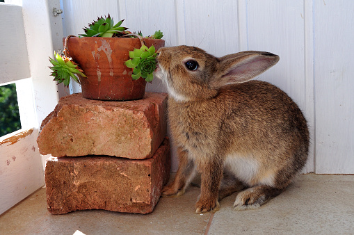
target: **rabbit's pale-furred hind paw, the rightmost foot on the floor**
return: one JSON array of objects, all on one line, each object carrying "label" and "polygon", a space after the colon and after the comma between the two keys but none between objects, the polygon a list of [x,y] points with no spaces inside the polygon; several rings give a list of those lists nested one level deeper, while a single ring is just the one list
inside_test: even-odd
[{"label": "rabbit's pale-furred hind paw, the rightmost foot on the floor", "polygon": [[236,211],[257,209],[264,202],[266,202],[266,195],[262,191],[257,188],[248,188],[236,196],[234,209]]}]

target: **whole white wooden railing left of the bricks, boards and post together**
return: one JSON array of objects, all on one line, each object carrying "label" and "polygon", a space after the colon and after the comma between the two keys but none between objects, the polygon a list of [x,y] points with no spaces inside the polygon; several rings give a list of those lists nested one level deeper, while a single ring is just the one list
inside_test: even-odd
[{"label": "whole white wooden railing left of the bricks, boards and post together", "polygon": [[45,184],[36,140],[40,123],[58,104],[47,67],[48,57],[62,48],[63,26],[52,15],[54,7],[60,8],[59,0],[0,3],[0,84],[16,81],[22,125],[0,137],[0,214]]}]

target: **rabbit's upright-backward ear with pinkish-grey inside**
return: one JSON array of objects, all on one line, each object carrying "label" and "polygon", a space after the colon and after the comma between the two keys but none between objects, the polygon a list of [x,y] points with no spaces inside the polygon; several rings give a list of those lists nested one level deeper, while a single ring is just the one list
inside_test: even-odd
[{"label": "rabbit's upright-backward ear with pinkish-grey inside", "polygon": [[219,58],[216,76],[211,86],[243,83],[262,74],[279,61],[279,56],[263,51],[243,51]]}]

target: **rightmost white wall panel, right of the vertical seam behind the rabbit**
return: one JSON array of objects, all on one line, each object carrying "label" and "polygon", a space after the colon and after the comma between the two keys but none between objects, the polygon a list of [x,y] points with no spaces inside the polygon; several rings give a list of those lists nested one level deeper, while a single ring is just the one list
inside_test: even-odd
[{"label": "rightmost white wall panel, right of the vertical seam behind the rabbit", "polygon": [[354,1],[314,1],[316,172],[354,173]]}]

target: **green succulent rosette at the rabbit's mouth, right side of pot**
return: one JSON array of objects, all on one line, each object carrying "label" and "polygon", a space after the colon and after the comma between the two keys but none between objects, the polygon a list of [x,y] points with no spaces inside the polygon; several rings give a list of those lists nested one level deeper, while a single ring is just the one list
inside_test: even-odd
[{"label": "green succulent rosette at the rabbit's mouth, right side of pot", "polygon": [[152,74],[156,69],[156,52],[155,47],[152,45],[147,48],[145,45],[140,47],[140,49],[134,49],[134,51],[129,51],[130,59],[125,61],[125,65],[133,69],[133,74],[131,78],[137,80],[140,76],[147,82],[154,79]]}]

